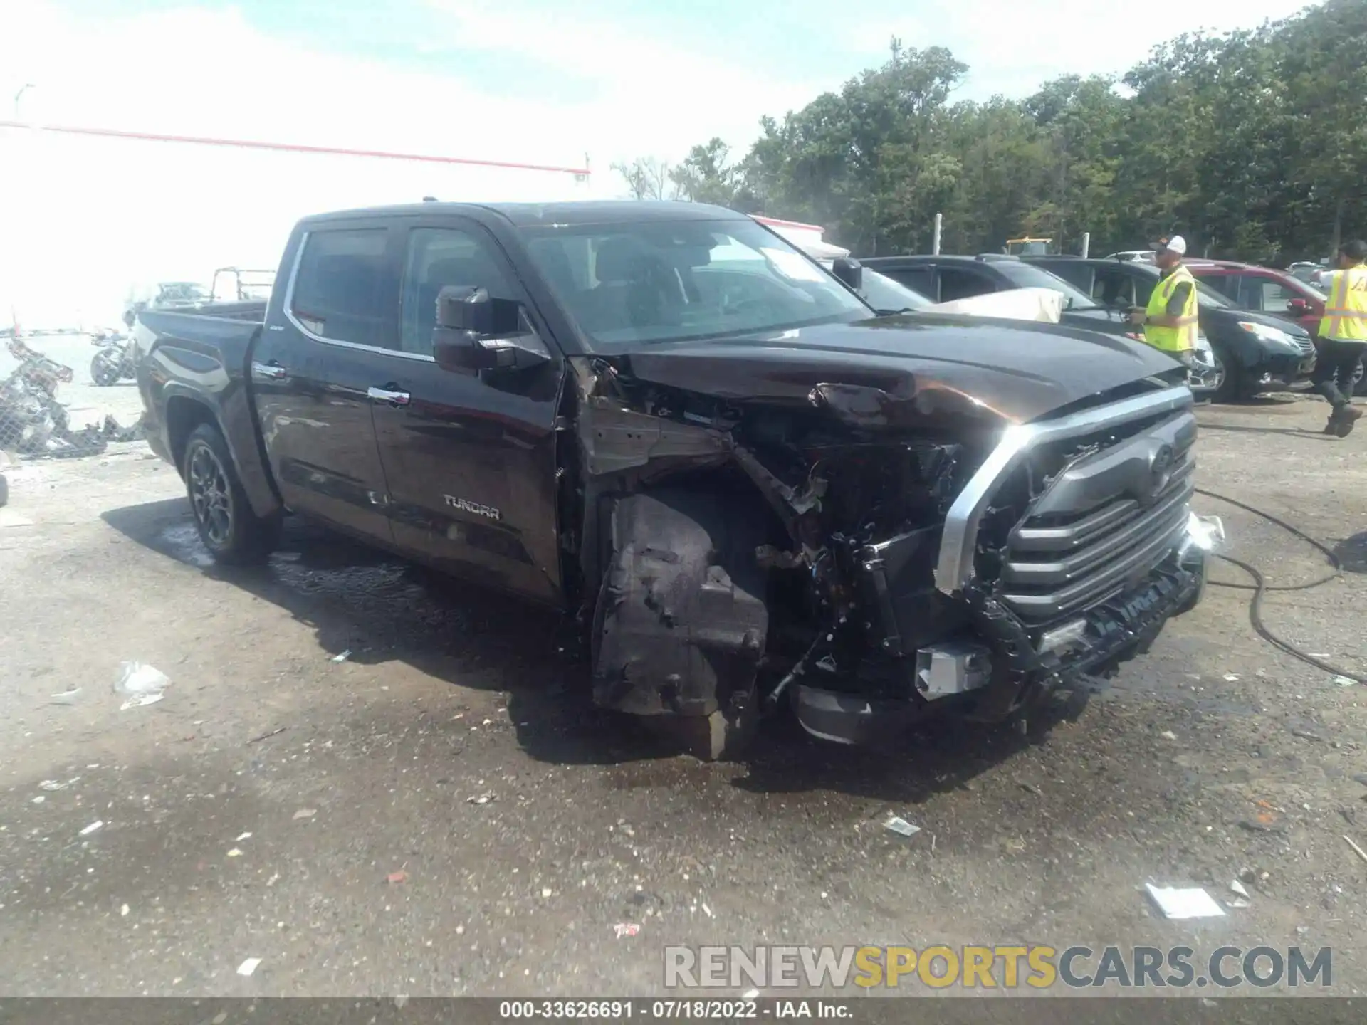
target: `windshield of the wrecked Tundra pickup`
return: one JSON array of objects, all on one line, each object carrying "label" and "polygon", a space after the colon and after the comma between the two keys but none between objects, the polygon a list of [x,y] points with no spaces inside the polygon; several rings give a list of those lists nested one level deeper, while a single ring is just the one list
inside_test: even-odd
[{"label": "windshield of the wrecked Tundra pickup", "polygon": [[522,231],[580,331],[604,350],[872,316],[830,273],[749,219]]}]

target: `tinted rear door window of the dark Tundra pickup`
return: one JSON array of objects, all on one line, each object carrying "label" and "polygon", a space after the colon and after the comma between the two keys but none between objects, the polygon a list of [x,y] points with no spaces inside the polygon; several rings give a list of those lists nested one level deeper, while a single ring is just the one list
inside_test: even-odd
[{"label": "tinted rear door window of the dark Tundra pickup", "polygon": [[387,242],[384,228],[309,232],[290,301],[294,318],[321,338],[387,346]]}]

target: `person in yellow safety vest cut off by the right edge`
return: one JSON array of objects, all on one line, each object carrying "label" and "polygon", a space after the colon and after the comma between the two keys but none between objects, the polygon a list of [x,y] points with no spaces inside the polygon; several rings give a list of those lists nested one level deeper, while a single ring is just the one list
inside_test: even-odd
[{"label": "person in yellow safety vest cut off by the right edge", "polygon": [[1367,242],[1349,242],[1338,250],[1338,269],[1322,273],[1319,287],[1329,292],[1319,321],[1319,358],[1315,391],[1334,407],[1326,435],[1348,437],[1362,417],[1353,409],[1353,377],[1367,355]]}]

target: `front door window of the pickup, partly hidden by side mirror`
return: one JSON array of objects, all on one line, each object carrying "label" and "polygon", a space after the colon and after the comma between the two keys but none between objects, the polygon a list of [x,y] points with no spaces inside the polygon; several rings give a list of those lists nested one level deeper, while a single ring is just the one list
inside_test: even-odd
[{"label": "front door window of the pickup, partly hidden by side mirror", "polygon": [[491,242],[461,228],[413,228],[403,260],[399,348],[432,354],[436,297],[448,284],[484,288],[495,299],[521,299]]}]

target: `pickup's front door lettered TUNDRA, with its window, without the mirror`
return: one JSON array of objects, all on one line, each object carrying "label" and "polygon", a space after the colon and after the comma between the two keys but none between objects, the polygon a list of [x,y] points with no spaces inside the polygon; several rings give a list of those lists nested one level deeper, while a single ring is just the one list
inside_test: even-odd
[{"label": "pickup's front door lettered TUNDRA, with its window, without the mirror", "polygon": [[[394,540],[470,579],[560,596],[555,417],[563,358],[493,236],[473,220],[413,219],[399,241],[395,348],[372,384]],[[552,351],[524,370],[443,370],[432,358],[436,297],[473,286],[514,299]]]}]

